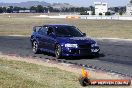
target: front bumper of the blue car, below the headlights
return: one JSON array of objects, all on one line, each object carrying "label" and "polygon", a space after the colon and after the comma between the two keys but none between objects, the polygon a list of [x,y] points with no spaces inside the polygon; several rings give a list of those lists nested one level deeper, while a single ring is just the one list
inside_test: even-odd
[{"label": "front bumper of the blue car, below the headlights", "polygon": [[62,48],[62,56],[88,56],[98,54],[100,51],[99,47],[91,48]]}]

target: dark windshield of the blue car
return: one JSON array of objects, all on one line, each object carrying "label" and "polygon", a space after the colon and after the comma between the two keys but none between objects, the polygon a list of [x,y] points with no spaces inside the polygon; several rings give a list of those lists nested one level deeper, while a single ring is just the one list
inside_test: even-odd
[{"label": "dark windshield of the blue car", "polygon": [[59,37],[82,37],[83,34],[74,26],[55,27],[55,33]]}]

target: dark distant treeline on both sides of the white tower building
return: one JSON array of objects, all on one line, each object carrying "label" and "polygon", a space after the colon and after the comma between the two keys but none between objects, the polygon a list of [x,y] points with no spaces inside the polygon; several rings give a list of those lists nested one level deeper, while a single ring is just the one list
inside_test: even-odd
[{"label": "dark distant treeline on both sides of the white tower building", "polygon": [[[30,8],[25,7],[0,7],[0,13],[13,13],[13,12],[19,12],[20,10],[30,10],[35,13],[47,13],[47,12],[80,12],[84,13],[86,11],[92,11],[93,14],[95,12],[95,9],[93,6],[89,7],[69,7],[69,8],[53,8],[51,6],[44,7],[42,5],[38,6],[31,6]],[[126,7],[110,7],[109,10],[114,11],[115,13],[124,13],[126,11]]]}]

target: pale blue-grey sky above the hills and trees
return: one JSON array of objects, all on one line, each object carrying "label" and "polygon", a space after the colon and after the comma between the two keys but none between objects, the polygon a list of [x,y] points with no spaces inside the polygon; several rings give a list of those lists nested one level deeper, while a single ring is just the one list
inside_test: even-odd
[{"label": "pale blue-grey sky above the hills and trees", "polygon": [[70,3],[76,6],[93,5],[94,1],[104,1],[104,2],[107,2],[109,6],[125,6],[129,2],[129,0],[0,0],[0,2],[11,2],[11,3],[25,2],[25,1],[45,1],[49,3],[65,2],[65,3]]}]

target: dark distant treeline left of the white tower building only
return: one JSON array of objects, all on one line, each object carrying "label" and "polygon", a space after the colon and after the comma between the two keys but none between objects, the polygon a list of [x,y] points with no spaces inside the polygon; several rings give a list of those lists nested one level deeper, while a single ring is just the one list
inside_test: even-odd
[{"label": "dark distant treeline left of the white tower building only", "polygon": [[44,13],[44,12],[84,12],[87,10],[94,10],[94,7],[69,7],[69,8],[53,8],[51,6],[43,7],[41,5],[38,6],[31,6],[30,8],[25,7],[0,7],[0,13],[13,13],[18,12],[20,10],[33,10],[36,13]]}]

